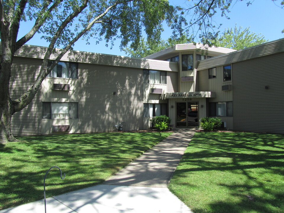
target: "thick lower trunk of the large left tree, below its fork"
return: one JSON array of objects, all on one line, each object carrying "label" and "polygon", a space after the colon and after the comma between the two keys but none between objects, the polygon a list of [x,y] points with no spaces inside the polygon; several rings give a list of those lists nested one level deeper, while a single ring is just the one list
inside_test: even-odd
[{"label": "thick lower trunk of the large left tree, below its fork", "polygon": [[0,106],[0,143],[17,141],[11,131],[12,101],[8,99],[1,102],[6,102],[6,104]]}]

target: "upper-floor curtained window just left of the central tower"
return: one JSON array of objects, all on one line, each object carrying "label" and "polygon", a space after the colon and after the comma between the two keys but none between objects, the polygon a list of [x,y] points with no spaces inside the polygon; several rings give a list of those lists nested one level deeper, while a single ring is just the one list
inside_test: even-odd
[{"label": "upper-floor curtained window just left of the central tower", "polygon": [[157,70],[143,70],[143,83],[166,84],[167,72]]}]

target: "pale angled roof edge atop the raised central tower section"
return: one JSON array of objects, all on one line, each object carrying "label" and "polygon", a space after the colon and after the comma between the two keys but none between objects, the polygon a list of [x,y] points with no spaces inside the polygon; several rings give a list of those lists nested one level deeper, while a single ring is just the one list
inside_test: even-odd
[{"label": "pale angled roof edge atop the raised central tower section", "polygon": [[208,54],[213,54],[213,55],[219,55],[223,53],[230,53],[233,51],[236,51],[234,49],[229,49],[229,48],[224,48],[224,47],[209,47],[209,46],[204,46],[203,44],[199,43],[186,43],[186,44],[176,44],[172,47],[169,47],[167,49],[161,50],[159,52],[156,52],[154,54],[151,54],[149,56],[144,57],[144,59],[162,59],[162,57],[166,57],[167,55],[172,55],[172,54],[178,54],[181,51],[187,51],[187,50],[206,50],[208,51]]}]

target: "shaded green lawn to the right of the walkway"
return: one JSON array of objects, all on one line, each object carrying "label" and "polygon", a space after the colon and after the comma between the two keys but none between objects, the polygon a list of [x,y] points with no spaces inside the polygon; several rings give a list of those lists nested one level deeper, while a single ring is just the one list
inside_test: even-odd
[{"label": "shaded green lawn to the right of the walkway", "polygon": [[284,135],[198,132],[169,189],[194,213],[283,213]]}]

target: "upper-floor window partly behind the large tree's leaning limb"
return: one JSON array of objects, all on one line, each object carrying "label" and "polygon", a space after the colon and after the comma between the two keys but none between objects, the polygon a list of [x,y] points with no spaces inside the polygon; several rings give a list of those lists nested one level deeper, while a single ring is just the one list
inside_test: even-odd
[{"label": "upper-floor window partly behind the large tree's leaning limb", "polygon": [[71,62],[58,62],[47,77],[78,78],[78,64]]}]

